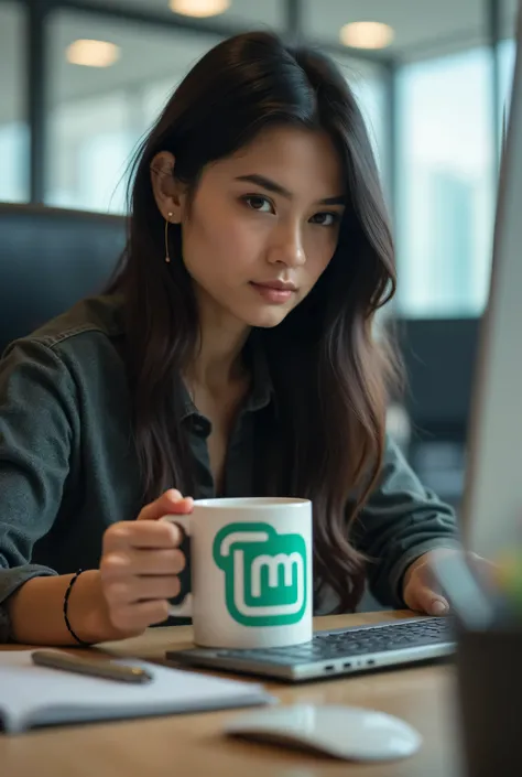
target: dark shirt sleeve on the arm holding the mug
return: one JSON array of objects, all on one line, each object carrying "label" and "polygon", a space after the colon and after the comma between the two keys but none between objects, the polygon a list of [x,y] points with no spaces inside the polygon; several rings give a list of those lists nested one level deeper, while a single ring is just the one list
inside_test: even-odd
[{"label": "dark shirt sleeve on the arm holding the mug", "polygon": [[69,470],[75,396],[53,348],[21,341],[0,360],[0,641],[7,598],[28,580],[56,572],[32,564],[52,528]]}]

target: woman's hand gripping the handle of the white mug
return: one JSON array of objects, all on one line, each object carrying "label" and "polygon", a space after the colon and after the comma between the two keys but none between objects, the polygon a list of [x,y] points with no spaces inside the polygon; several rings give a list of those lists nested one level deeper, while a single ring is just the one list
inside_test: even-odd
[{"label": "woman's hand gripping the handle of the white mug", "polygon": [[144,507],[138,520],[119,521],[104,535],[100,579],[107,616],[121,637],[165,620],[167,600],[180,593],[185,566],[178,527],[166,515],[192,512],[193,499],[171,489]]}]

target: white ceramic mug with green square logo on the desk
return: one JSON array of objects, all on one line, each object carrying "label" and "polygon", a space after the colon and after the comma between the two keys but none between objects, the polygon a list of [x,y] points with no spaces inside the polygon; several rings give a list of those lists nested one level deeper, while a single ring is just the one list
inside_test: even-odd
[{"label": "white ceramic mug with green square logo on the desk", "polygon": [[205,647],[257,648],[312,639],[312,503],[199,499],[165,516],[191,543],[191,592],[170,614],[191,616]]}]

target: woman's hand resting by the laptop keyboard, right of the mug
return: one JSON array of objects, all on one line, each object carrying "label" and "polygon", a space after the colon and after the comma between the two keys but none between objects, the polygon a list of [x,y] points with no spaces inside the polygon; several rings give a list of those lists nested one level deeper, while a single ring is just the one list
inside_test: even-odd
[{"label": "woman's hand resting by the laptop keyboard, right of the mug", "polygon": [[437,548],[424,553],[416,559],[406,570],[404,575],[402,596],[410,609],[415,609],[428,615],[445,615],[449,612],[449,604],[441,593],[434,573],[434,561],[439,558],[463,557],[474,566],[478,576],[483,576],[490,582],[494,574],[494,564],[482,559],[476,553],[465,552],[457,548]]}]

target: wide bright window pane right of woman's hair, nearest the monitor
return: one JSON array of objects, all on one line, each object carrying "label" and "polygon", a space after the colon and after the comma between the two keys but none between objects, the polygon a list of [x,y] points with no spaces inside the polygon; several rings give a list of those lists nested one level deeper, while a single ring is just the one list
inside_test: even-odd
[{"label": "wide bright window pane right of woman's hair, nearest the monitor", "polygon": [[491,55],[475,48],[399,76],[398,307],[466,316],[485,305],[496,164]]}]

